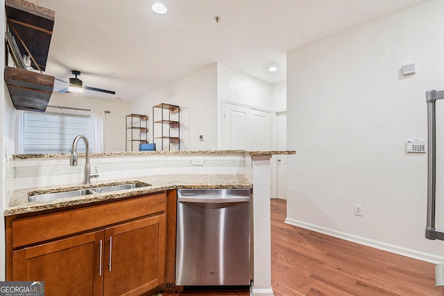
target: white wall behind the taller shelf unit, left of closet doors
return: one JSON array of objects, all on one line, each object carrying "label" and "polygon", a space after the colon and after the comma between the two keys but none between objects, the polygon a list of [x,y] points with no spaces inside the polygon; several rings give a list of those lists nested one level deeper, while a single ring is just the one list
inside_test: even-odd
[{"label": "white wall behind the taller shelf unit, left of closet doors", "polygon": [[[131,112],[148,115],[149,142],[151,143],[153,137],[153,105],[167,103],[180,106],[180,150],[215,149],[217,147],[216,76],[217,64],[214,63],[133,101],[130,104]],[[199,141],[200,134],[203,134],[205,141]]]}]

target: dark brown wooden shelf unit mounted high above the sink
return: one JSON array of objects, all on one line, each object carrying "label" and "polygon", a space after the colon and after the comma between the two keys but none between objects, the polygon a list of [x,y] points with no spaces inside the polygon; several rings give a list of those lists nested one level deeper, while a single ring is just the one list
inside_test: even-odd
[{"label": "dark brown wooden shelf unit mounted high above the sink", "polygon": [[[8,31],[17,43],[19,58],[30,55],[31,67],[44,71],[56,12],[25,0],[6,0],[5,10]],[[46,110],[53,92],[53,76],[5,67],[5,82],[15,109]]]}]

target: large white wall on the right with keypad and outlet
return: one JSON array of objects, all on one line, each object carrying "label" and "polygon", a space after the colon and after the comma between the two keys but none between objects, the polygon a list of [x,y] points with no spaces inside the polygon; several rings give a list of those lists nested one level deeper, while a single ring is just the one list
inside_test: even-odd
[{"label": "large white wall on the right with keypad and outlet", "polygon": [[427,155],[404,152],[427,139],[425,92],[444,89],[443,16],[428,1],[288,53],[289,223],[443,261],[444,241],[425,238]]}]

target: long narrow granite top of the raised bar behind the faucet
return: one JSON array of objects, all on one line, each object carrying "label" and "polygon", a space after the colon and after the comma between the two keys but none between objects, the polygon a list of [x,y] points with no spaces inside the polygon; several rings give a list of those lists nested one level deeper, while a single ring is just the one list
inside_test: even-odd
[{"label": "long narrow granite top of the raised bar behind the faucet", "polygon": [[[187,155],[187,154],[250,154],[250,155],[294,155],[296,150],[263,150],[263,151],[246,151],[246,150],[172,150],[172,151],[127,151],[127,152],[102,152],[89,153],[91,157],[121,156],[121,155]],[[85,153],[78,153],[84,155]],[[35,158],[58,158],[69,157],[69,153],[58,154],[15,154],[13,159],[35,159]]]}]

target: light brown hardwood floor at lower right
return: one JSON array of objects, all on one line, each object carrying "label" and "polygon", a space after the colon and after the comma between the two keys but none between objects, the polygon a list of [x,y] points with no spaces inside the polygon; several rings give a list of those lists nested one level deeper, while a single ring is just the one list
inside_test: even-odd
[{"label": "light brown hardwood floor at lower right", "polygon": [[275,296],[444,295],[434,264],[287,225],[286,200],[271,200]]}]

